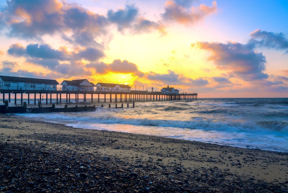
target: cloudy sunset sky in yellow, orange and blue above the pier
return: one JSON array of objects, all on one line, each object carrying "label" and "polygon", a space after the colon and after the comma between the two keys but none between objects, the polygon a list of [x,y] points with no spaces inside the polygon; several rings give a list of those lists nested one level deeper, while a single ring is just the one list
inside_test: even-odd
[{"label": "cloudy sunset sky in yellow, orange and blue above the pier", "polygon": [[0,74],[287,97],[287,20],[288,1],[0,0]]}]

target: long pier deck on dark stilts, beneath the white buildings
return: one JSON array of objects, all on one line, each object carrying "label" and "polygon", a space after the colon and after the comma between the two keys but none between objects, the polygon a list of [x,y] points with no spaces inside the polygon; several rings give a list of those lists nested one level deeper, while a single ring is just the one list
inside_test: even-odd
[{"label": "long pier deck on dark stilts, beneath the white buildings", "polygon": [[[41,90],[0,90],[3,94],[3,103],[5,101],[5,93],[8,93],[8,102],[11,102],[11,95],[14,95],[15,104],[17,94],[21,96],[21,105],[23,104],[23,94],[28,94],[28,104],[30,104],[30,96],[34,97],[34,104],[36,105],[36,99],[42,100],[42,95],[46,95],[46,104],[52,103],[52,94],[56,94],[56,103],[70,103],[71,97],[75,98],[76,103],[79,103],[79,94],[83,95],[83,101],[87,99],[87,95],[91,97],[91,102],[95,99],[100,102],[100,94],[104,95],[104,101],[112,103],[112,96],[114,96],[115,103],[117,102],[128,102],[128,101],[170,101],[170,100],[197,100],[197,93],[161,93],[161,92],[150,92],[150,91],[137,91],[131,90],[130,92],[99,92],[99,91],[41,91]],[[64,98],[62,98],[64,95]],[[96,95],[96,98],[94,96]],[[66,96],[66,98],[65,98]],[[108,96],[108,98],[106,97]]]}]

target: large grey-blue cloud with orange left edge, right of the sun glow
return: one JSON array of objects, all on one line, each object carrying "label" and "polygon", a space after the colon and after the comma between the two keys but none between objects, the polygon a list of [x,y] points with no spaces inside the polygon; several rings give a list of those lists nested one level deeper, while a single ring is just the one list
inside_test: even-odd
[{"label": "large grey-blue cloud with orange left edge, right of the sun glow", "polygon": [[201,49],[210,51],[208,60],[213,61],[218,69],[229,70],[246,81],[261,80],[268,78],[263,73],[266,59],[262,53],[255,52],[250,44],[227,42],[197,42]]}]

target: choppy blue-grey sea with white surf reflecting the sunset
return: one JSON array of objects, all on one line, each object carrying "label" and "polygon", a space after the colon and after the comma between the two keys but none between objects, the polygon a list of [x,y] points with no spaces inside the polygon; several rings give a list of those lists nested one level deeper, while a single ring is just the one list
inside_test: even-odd
[{"label": "choppy blue-grey sea with white surf reflecting the sunset", "polygon": [[[71,102],[68,107],[75,106],[74,101]],[[132,103],[129,103],[132,106]],[[65,104],[58,104],[56,108],[64,107]],[[109,103],[90,101],[77,105],[94,104],[98,108],[92,112],[16,115],[75,128],[137,133],[288,152],[288,98],[136,101],[135,108],[123,109],[108,108]],[[104,104],[103,108],[101,104]],[[118,106],[120,105],[121,103],[118,103]],[[43,107],[45,106],[46,104],[43,104]],[[48,103],[48,106],[51,104]],[[114,107],[115,103],[111,103],[111,106]]]}]

